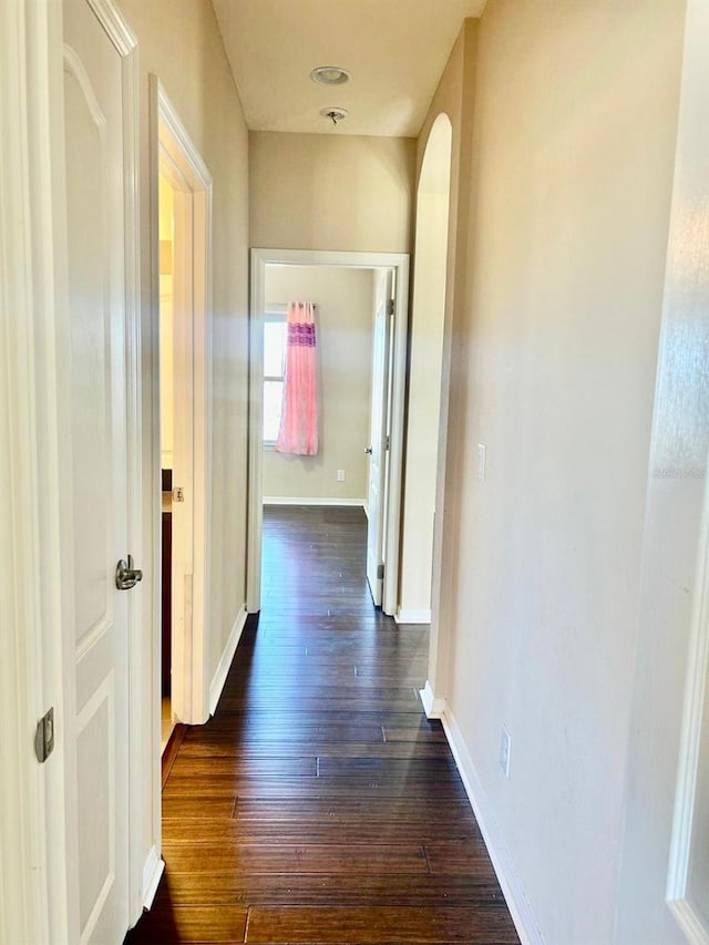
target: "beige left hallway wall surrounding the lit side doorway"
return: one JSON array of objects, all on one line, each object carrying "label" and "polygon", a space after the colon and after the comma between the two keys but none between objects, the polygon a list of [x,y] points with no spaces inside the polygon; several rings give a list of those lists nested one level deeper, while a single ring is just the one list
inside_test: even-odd
[{"label": "beige left hallway wall surrounding the lit side doorway", "polygon": [[[177,110],[214,181],[214,417],[212,446],[213,515],[209,523],[212,582],[207,588],[212,619],[206,675],[212,679],[233,623],[245,599],[246,466],[247,453],[247,310],[248,310],[248,141],[240,103],[224,54],[208,0],[121,0],[135,31],[141,62],[141,215],[142,258],[151,258],[148,74],[156,73]],[[151,311],[150,270],[143,267],[144,312]],[[144,318],[145,454],[153,455],[157,436],[157,364],[153,338],[157,325]],[[156,458],[157,459],[157,458]],[[154,500],[158,471],[144,468],[146,509]],[[157,510],[156,510],[157,513]],[[155,520],[156,521],[156,520]],[[146,520],[145,534],[153,530]],[[153,556],[155,559],[155,556]],[[146,606],[146,647],[150,647],[152,586],[150,569],[142,594]],[[152,664],[145,659],[150,691]],[[160,721],[157,721],[160,726]],[[150,741],[145,751],[150,754]],[[146,754],[146,764],[153,760]],[[156,772],[157,775],[158,772]],[[145,850],[160,824],[145,814]]]}]

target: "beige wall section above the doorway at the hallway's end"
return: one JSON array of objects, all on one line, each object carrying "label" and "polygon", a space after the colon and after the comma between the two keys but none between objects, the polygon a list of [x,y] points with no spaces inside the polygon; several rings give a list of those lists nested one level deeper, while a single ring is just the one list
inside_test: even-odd
[{"label": "beige wall section above the doorway at the hallway's end", "polygon": [[408,253],[413,138],[251,132],[250,243]]}]

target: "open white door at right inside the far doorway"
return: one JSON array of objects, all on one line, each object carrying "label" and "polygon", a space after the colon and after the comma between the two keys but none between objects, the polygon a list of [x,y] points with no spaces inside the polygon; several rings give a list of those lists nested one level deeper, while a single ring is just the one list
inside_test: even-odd
[{"label": "open white door at right inside the far doorway", "polygon": [[384,522],[387,517],[387,473],[389,413],[391,402],[390,361],[393,325],[392,273],[378,274],[374,296],[372,345],[372,402],[369,452],[369,525],[367,528],[367,581],[377,607],[381,607],[384,584]]}]

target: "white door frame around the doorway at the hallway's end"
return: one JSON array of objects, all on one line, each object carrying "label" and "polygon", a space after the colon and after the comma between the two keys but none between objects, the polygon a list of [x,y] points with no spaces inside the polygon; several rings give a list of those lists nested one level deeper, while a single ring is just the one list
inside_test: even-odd
[{"label": "white door frame around the doorway at the hallway's end", "polygon": [[[382,535],[380,552],[387,549],[387,567],[381,576],[382,592],[381,605],[386,614],[393,614],[397,607],[399,568],[399,509],[400,509],[400,472],[401,472],[401,448],[403,429],[403,388],[405,373],[405,337],[407,337],[407,289],[408,289],[408,256],[403,254],[369,254],[369,253],[320,253],[311,250],[251,250],[251,319],[250,319],[250,415],[249,415],[249,541],[248,541],[248,567],[247,567],[247,606],[249,613],[260,609],[261,597],[261,532],[263,532],[263,503],[264,503],[264,335],[265,326],[274,315],[274,299],[268,298],[268,271],[269,268],[280,267],[292,269],[295,267],[308,267],[322,269],[333,268],[350,270],[352,273],[369,270],[370,286],[370,318],[373,312],[373,290],[377,280],[372,278],[373,271],[387,270],[391,273],[391,286],[397,291],[391,306],[391,371],[390,381],[387,381],[387,402],[391,404],[390,420],[387,424],[387,484],[383,501],[379,503],[379,532]],[[390,296],[391,299],[391,296]],[[314,299],[317,305],[317,299]],[[279,301],[282,307],[282,300]],[[368,342],[369,343],[369,342]],[[267,352],[268,353],[268,352]],[[269,357],[269,362],[273,360]],[[388,361],[389,363],[389,361]],[[269,368],[270,370],[270,368]],[[371,377],[371,348],[367,363],[367,387]],[[270,380],[270,374],[267,380]],[[360,398],[366,421],[369,421],[368,398]],[[268,410],[268,403],[266,404]],[[267,413],[268,417],[268,413]],[[369,463],[364,462],[368,446],[371,446],[369,430],[364,430],[359,460],[366,474],[362,477],[361,492],[369,489]],[[270,456],[268,466],[270,463]],[[280,459],[280,458],[279,458]],[[312,464],[314,468],[317,466]],[[383,463],[382,463],[383,466]],[[345,485],[346,468],[336,470],[338,481]],[[343,476],[343,479],[341,479]],[[270,477],[269,477],[270,482]],[[350,502],[356,502],[351,500]],[[337,500],[331,504],[338,504]],[[347,504],[347,503],[345,503]],[[359,504],[369,506],[368,495],[362,496]],[[370,531],[374,523],[371,521]],[[379,603],[379,602],[378,602]]]}]

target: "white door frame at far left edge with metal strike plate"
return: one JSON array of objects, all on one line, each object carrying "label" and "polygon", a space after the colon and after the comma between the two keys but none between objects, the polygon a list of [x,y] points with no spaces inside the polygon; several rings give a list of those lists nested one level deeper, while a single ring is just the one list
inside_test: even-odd
[{"label": "white door frame at far left edge with metal strike plate", "polygon": [[[0,527],[0,939],[69,942],[62,731],[66,597],[48,565],[58,564],[61,439],[54,345],[65,320],[61,278],[63,163],[60,4],[3,4],[0,30],[0,451],[6,495]],[[59,256],[59,258],[58,258]],[[7,501],[11,500],[11,501]],[[54,501],[56,500],[56,501]],[[54,572],[55,574],[55,572]],[[4,617],[8,623],[4,623]],[[37,719],[54,707],[54,753],[38,764]]]}]

